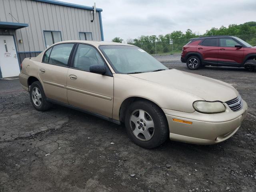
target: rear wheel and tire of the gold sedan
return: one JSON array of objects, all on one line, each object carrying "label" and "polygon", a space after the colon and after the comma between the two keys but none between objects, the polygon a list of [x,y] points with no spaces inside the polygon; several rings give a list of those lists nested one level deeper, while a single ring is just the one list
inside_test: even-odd
[{"label": "rear wheel and tire of the gold sedan", "polygon": [[31,84],[29,89],[30,101],[38,111],[46,111],[51,107],[51,103],[46,100],[44,89],[39,81]]}]

